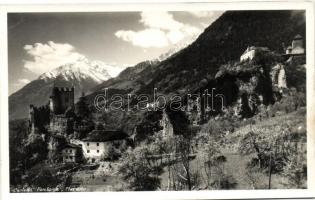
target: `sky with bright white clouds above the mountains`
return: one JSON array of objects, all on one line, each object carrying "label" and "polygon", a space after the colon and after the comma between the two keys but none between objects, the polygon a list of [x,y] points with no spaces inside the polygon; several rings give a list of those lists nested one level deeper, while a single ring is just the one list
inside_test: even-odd
[{"label": "sky with bright white clouds above the mountains", "polygon": [[116,76],[190,41],[219,11],[9,13],[9,93],[80,58],[102,61]]}]

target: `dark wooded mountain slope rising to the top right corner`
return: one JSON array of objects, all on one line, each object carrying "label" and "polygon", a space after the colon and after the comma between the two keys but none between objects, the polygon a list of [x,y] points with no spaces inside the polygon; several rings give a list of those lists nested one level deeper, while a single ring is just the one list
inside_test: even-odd
[{"label": "dark wooded mountain slope rising to the top right corner", "polygon": [[[284,53],[294,36],[305,38],[303,11],[227,11],[186,48],[165,60],[143,62],[94,88],[90,99],[104,88],[122,93],[184,94],[211,82],[221,65],[237,61],[248,46]],[[140,70],[141,69],[141,70]]]}]

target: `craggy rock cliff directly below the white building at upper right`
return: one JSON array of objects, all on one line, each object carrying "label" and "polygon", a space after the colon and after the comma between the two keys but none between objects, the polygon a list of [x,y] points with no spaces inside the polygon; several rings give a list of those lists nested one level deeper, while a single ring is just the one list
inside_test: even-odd
[{"label": "craggy rock cliff directly below the white building at upper right", "polygon": [[[229,63],[221,67],[216,80],[233,77],[238,87],[234,115],[240,118],[251,117],[259,111],[260,105],[270,105],[281,98],[287,88],[286,64],[275,52],[263,52],[252,60]],[[222,84],[222,83],[221,83]]]}]

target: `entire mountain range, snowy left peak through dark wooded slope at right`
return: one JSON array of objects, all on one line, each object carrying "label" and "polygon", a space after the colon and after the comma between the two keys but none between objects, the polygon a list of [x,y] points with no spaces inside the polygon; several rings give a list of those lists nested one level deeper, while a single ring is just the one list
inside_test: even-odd
[{"label": "entire mountain range, snowy left peak through dark wooded slope at right", "polygon": [[165,95],[184,95],[204,83],[216,86],[220,66],[239,60],[248,46],[284,53],[284,46],[296,34],[305,38],[303,11],[227,11],[190,45],[128,67],[117,77],[110,78],[102,65],[85,61],[45,73],[9,97],[10,119],[26,117],[29,104],[47,102],[54,83],[72,83],[77,88],[76,97],[89,91],[90,102],[104,88],[122,94],[152,94],[157,88]]}]

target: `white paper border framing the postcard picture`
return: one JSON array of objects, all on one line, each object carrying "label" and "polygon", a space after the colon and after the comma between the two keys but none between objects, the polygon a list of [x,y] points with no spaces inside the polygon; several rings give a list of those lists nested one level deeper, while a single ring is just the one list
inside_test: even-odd
[{"label": "white paper border framing the postcard picture", "polygon": [[[306,10],[306,66],[307,66],[307,189],[277,190],[215,190],[215,191],[154,191],[154,192],[60,192],[10,193],[9,191],[9,119],[8,119],[8,43],[7,13],[26,12],[109,12],[143,10]],[[107,3],[107,4],[51,4],[0,5],[0,142],[2,199],[259,199],[315,197],[315,71],[314,71],[314,3],[299,2],[177,2],[177,3]]]}]

